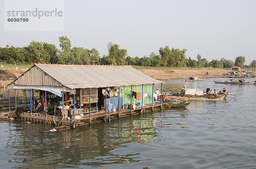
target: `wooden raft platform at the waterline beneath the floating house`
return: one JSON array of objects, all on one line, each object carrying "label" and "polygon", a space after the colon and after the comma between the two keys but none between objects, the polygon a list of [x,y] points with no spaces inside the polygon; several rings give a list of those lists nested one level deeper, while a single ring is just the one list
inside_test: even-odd
[{"label": "wooden raft platform at the waterline beneath the floating house", "polygon": [[[131,113],[131,109],[125,109],[125,110],[119,110],[119,112],[118,111],[111,112],[111,113],[107,112],[107,116],[109,116],[110,119],[116,119],[122,116],[146,113],[149,111],[153,111],[154,109],[160,109],[160,108],[161,108],[160,104],[153,105],[153,107],[151,105],[150,106],[145,105],[143,108],[139,107],[135,110],[132,110],[132,113]],[[12,118],[15,118],[15,113],[9,112],[9,116]],[[104,122],[105,116],[106,116],[105,111],[100,111],[96,113],[91,113],[91,118],[89,114],[84,114],[82,118],[73,120],[73,119],[63,119],[60,116],[54,116],[54,115],[45,116],[44,113],[23,112],[20,114],[19,118],[26,122],[44,123],[48,125],[54,124],[56,126],[54,127],[55,130],[65,130],[65,129],[76,128],[76,127],[89,125],[93,123]],[[44,132],[50,132],[50,130],[47,130]]]}]

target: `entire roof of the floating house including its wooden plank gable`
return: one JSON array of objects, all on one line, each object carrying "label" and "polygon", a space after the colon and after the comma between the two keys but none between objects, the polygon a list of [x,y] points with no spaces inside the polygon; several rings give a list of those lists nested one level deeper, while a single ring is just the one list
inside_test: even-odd
[{"label": "entire roof of the floating house including its wooden plank gable", "polygon": [[131,66],[49,65],[35,64],[18,77],[9,88],[19,86],[61,87],[62,91],[76,88],[98,88],[123,85],[163,83]]}]

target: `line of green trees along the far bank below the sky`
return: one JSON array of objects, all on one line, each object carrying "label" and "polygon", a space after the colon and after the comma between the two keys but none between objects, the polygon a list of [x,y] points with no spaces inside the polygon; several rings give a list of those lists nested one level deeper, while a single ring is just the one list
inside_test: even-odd
[{"label": "line of green trees along the far bank below the sky", "polygon": [[148,67],[189,67],[189,68],[232,68],[234,65],[241,68],[256,68],[256,60],[250,65],[244,65],[245,57],[236,57],[235,62],[221,58],[207,61],[198,54],[195,59],[186,58],[186,49],[169,48],[165,46],[159,49],[159,54],[152,52],[149,56],[135,58],[127,56],[127,50],[120,48],[112,42],[108,44],[108,54],[99,56],[95,48],[86,49],[81,47],[71,48],[70,39],[59,37],[60,50],[51,43],[35,42],[23,48],[0,47],[0,61],[6,63],[46,63],[46,64],[72,64],[72,65],[137,65]]}]

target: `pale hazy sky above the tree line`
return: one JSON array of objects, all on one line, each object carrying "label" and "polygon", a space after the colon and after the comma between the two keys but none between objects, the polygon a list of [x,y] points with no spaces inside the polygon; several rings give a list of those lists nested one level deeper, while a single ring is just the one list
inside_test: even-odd
[{"label": "pale hazy sky above the tree line", "polygon": [[192,59],[245,56],[247,65],[256,59],[256,0],[65,0],[62,32],[6,32],[3,4],[0,0],[1,47],[34,40],[59,48],[58,37],[67,36],[72,46],[96,48],[100,56],[113,42],[132,57],[158,54],[168,45],[186,48]]}]

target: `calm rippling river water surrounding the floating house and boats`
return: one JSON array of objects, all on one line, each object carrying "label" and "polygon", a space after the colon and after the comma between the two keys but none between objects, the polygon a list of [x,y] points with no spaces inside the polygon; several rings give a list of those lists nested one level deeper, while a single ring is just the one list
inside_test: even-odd
[{"label": "calm rippling river water surrounding the floating house and boats", "polygon": [[165,81],[163,91],[225,87],[230,94],[223,101],[193,101],[186,108],[51,133],[41,132],[44,124],[0,122],[1,168],[256,168],[256,85],[213,80]]}]

